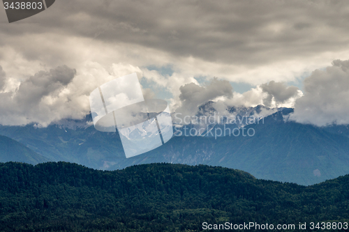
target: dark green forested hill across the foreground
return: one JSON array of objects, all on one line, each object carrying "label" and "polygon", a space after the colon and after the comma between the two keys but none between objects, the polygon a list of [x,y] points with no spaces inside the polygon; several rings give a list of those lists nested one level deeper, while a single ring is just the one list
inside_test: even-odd
[{"label": "dark green forested hill across the foreground", "polygon": [[97,171],[66,162],[0,164],[0,231],[202,231],[203,222],[349,222],[348,206],[349,176],[304,187],[204,165]]}]

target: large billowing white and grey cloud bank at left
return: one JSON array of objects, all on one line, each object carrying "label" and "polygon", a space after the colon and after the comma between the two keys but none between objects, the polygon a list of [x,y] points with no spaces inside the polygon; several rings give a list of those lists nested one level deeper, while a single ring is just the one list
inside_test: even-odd
[{"label": "large billowing white and grey cloud bank at left", "polygon": [[[102,65],[87,62],[79,72],[66,65],[39,71],[11,91],[0,93],[0,124],[47,126],[62,118],[81,119],[89,114],[89,94],[101,84],[124,73],[139,71],[138,67],[117,63],[108,72]],[[3,72],[1,72],[3,73]],[[5,77],[5,79],[9,79]],[[142,90],[154,97],[149,89]]]}]

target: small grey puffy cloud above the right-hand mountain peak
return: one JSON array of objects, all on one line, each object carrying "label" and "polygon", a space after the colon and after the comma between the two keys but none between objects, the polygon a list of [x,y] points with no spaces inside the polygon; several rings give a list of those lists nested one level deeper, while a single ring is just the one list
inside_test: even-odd
[{"label": "small grey puffy cloud above the right-hand mountain peak", "polygon": [[274,98],[276,104],[284,103],[298,94],[299,88],[296,86],[287,86],[282,82],[269,82],[269,84],[260,85],[262,91],[267,93],[267,97],[263,99],[263,104],[267,107],[272,105]]}]

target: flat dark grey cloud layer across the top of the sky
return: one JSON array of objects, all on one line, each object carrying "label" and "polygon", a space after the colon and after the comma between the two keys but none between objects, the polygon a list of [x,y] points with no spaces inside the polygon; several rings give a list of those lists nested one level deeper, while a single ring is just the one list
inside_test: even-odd
[{"label": "flat dark grey cloud layer across the top of the sky", "polygon": [[61,1],[26,20],[40,23],[0,32],[60,33],[255,65],[340,51],[349,44],[348,8],[346,1]]}]

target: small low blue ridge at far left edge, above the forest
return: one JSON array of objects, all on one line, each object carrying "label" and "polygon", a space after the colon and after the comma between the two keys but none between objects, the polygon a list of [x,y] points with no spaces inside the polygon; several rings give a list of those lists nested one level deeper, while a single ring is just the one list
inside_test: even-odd
[{"label": "small low blue ridge at far left edge, above the forest", "polygon": [[46,157],[35,153],[23,144],[0,135],[0,162],[26,162],[38,164],[50,161]]}]

